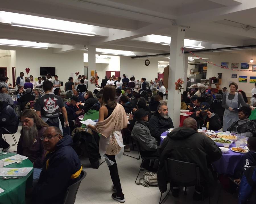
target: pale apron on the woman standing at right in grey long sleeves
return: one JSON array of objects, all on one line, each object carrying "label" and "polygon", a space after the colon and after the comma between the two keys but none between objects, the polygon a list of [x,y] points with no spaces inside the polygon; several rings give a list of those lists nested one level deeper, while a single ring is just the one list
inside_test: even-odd
[{"label": "pale apron on the woman standing at right in grey long sleeves", "polygon": [[[235,93],[235,97],[232,100],[228,99],[228,95],[229,93],[226,94],[226,105],[233,109],[238,108],[238,93]],[[225,109],[223,116],[223,131],[227,131],[227,129],[238,120],[238,113],[236,111]]]}]

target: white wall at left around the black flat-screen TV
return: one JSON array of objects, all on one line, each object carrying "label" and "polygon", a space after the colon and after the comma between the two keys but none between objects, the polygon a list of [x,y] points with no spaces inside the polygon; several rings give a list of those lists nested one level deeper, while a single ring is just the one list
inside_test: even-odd
[{"label": "white wall at left around the black flat-screen TV", "polygon": [[[30,68],[28,75],[25,70],[27,67]],[[37,78],[40,76],[40,67],[55,67],[55,74],[64,85],[71,73],[79,71],[79,74],[83,74],[83,53],[75,51],[54,54],[51,49],[16,48],[16,76],[22,71],[25,73],[24,77],[33,75]],[[75,74],[73,77],[75,78]],[[61,90],[64,90],[64,86]]]}]

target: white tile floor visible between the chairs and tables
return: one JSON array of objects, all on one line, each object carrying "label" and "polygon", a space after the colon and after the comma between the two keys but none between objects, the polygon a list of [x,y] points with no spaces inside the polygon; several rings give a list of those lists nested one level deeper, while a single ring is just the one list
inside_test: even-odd
[{"label": "white tile floor visible between the chairs and tables", "polygon": [[[15,134],[15,138],[18,141],[20,137],[21,126],[18,128],[18,132]],[[7,142],[13,144],[13,139],[11,135],[5,135]],[[16,151],[17,145],[11,146],[8,151]],[[137,151],[131,151],[132,156],[137,156]],[[103,161],[103,160],[100,160]],[[88,158],[81,159],[83,170],[86,171],[87,175],[85,179],[81,182],[79,190],[77,192],[77,197],[75,204],[116,204],[119,203],[111,198],[113,193],[111,190],[112,181],[110,178],[110,173],[106,162],[104,162],[98,169],[92,169],[90,167],[90,162]],[[141,160],[136,160],[128,156],[123,156],[120,160],[117,159],[117,166],[119,171],[119,177],[121,180],[121,185],[123,193],[125,194],[125,203],[127,204],[158,204],[160,199],[160,191],[158,187],[146,188],[142,185],[136,185],[135,179],[139,172],[139,166]],[[142,173],[139,178],[142,177]],[[187,196],[184,196],[182,192],[178,198],[172,195],[168,196],[163,202],[164,204],[181,204],[181,203],[202,203],[201,201],[193,201],[194,188],[187,188]],[[163,196],[165,196],[163,194]],[[208,199],[205,199],[203,203],[209,203]],[[210,203],[216,203],[216,199],[212,199]],[[221,194],[218,201],[219,204],[226,203],[237,203],[237,199],[227,193],[223,188],[221,188]]]}]

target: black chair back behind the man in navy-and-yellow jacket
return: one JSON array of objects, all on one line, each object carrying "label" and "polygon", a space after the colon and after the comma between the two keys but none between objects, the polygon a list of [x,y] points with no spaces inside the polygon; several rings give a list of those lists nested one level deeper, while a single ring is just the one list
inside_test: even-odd
[{"label": "black chair back behind the man in navy-and-yellow jacket", "polygon": [[63,204],[74,204],[76,201],[77,191],[79,189],[81,181],[86,177],[86,172],[82,170],[81,178],[79,181],[75,182],[74,184],[70,185],[67,188]]}]

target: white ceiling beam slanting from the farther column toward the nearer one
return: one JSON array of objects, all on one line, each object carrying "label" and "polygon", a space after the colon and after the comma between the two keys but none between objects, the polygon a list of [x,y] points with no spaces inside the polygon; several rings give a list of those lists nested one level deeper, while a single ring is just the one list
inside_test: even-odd
[{"label": "white ceiling beam slanting from the farther column toward the nearer one", "polygon": [[103,39],[96,39],[93,38],[90,41],[90,44],[92,45],[102,45],[102,44],[109,44],[124,40],[129,40],[145,35],[152,34],[154,30],[160,30],[164,28],[165,26],[162,24],[150,24],[145,27],[142,27],[135,31],[125,31],[125,30],[118,30],[118,29],[109,29],[109,37],[103,38]]}]

